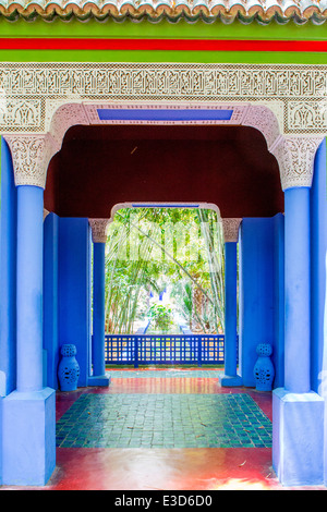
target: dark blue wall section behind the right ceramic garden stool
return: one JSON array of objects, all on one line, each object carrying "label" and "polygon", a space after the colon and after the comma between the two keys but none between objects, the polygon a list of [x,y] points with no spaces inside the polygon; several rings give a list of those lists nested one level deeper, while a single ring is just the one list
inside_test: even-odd
[{"label": "dark blue wall section behind the right ceramic garden stool", "polygon": [[[240,374],[254,387],[258,343],[274,349],[276,383],[283,381],[283,219],[245,218],[240,231]],[[274,387],[276,387],[274,383]]]}]

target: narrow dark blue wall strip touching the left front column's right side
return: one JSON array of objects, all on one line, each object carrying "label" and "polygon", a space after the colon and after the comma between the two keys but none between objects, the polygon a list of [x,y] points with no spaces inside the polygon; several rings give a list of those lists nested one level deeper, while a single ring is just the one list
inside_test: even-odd
[{"label": "narrow dark blue wall strip touching the left front column's right side", "polygon": [[58,389],[58,239],[59,217],[49,214],[44,222],[44,349],[46,353],[45,382]]}]

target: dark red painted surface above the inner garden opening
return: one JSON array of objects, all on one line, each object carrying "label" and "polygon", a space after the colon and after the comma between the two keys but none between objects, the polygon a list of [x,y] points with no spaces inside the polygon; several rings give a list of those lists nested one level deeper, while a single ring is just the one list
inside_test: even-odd
[{"label": "dark red painted surface above the inner garden opening", "polygon": [[73,126],[52,158],[45,207],[61,217],[109,217],[117,203],[206,202],[221,217],[283,211],[278,164],[244,126]]}]

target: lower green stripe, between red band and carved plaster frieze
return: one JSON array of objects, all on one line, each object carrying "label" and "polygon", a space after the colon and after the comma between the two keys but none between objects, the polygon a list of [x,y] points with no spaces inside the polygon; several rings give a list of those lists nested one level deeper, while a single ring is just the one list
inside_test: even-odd
[{"label": "lower green stripe, between red band and carved plaster frieze", "polygon": [[327,64],[325,52],[1,50],[2,62],[196,62]]}]

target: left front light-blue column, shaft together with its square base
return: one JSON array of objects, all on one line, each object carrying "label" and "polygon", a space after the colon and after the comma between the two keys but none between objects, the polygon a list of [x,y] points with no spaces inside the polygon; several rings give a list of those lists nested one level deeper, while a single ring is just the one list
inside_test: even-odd
[{"label": "left front light-blue column, shaft together with its square base", "polygon": [[43,387],[44,190],[17,186],[16,390],[3,399],[3,484],[45,485],[56,467],[56,393]]}]

